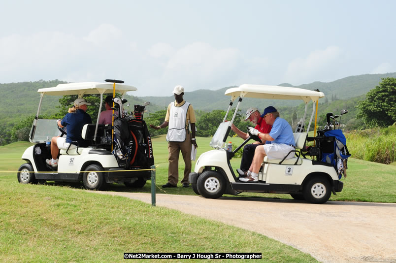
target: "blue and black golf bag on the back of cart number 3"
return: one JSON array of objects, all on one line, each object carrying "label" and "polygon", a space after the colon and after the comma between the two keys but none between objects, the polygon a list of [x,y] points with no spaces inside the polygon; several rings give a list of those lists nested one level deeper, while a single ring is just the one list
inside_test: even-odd
[{"label": "blue and black golf bag on the back of cart number 3", "polygon": [[338,179],[342,174],[346,176],[347,159],[351,156],[346,146],[346,138],[341,130],[324,131],[327,147],[322,148],[322,162],[332,164],[338,173]]}]

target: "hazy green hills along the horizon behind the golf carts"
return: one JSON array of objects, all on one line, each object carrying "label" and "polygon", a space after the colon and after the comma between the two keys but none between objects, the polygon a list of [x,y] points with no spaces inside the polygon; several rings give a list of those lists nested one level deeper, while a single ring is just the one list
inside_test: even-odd
[{"label": "hazy green hills along the horizon behind the golf carts", "polygon": [[[337,102],[341,104],[339,105],[339,107],[347,108],[346,106],[348,106],[347,109],[351,111],[353,109],[352,104],[354,105],[358,100],[363,99],[364,97],[362,96],[365,95],[369,90],[377,86],[381,82],[381,78],[385,77],[396,77],[396,72],[386,74],[364,74],[358,76],[350,76],[328,83],[313,82],[300,86],[293,86],[289,83],[283,83],[280,84],[280,86],[299,87],[308,90],[319,89],[326,95],[326,98],[319,101],[321,104],[325,105],[325,107],[321,107],[320,109],[324,112],[319,112],[319,115],[326,114],[326,112],[329,111],[334,111],[334,114],[336,114],[339,112],[340,109],[334,109],[334,106],[332,105],[333,101],[331,101],[332,98],[334,98],[334,100],[336,98],[336,101],[351,101]],[[35,114],[37,111],[38,101],[40,99],[40,95],[37,93],[37,89],[54,87],[61,83],[66,82],[60,80],[40,80],[34,82],[0,84],[0,97],[2,98],[3,103],[7,105],[6,107],[2,107],[0,109],[1,124],[4,127],[12,127],[23,118]],[[187,91],[184,98],[187,101],[191,102],[194,105],[194,109],[196,110],[202,110],[206,112],[212,111],[214,109],[225,110],[227,109],[227,105],[230,102],[230,97],[224,96],[224,93],[228,88],[231,87],[225,87],[214,91]],[[169,93],[171,93],[171,91],[169,91]],[[359,99],[350,100],[351,98]],[[57,106],[59,105],[59,99],[60,97],[44,96],[41,113],[54,114],[58,112]],[[130,106],[126,107],[126,109],[129,109],[131,111],[133,110],[134,104],[141,104],[144,101],[150,101],[151,104],[146,107],[147,111],[150,113],[165,109],[167,105],[174,100],[174,97],[171,95],[167,97],[134,97],[132,95],[127,95],[126,99],[128,99],[128,103],[130,104]],[[258,100],[247,98],[244,99],[241,110],[243,112],[250,106],[255,106],[261,110],[267,105],[273,105],[275,107],[281,108],[281,112],[283,112],[283,117],[287,118],[288,116],[291,116],[293,114],[294,110],[288,107],[297,106],[300,102],[288,102],[287,107],[285,107],[284,103],[284,101],[279,100]],[[342,106],[345,103],[348,105]],[[297,111],[297,116],[299,116],[300,111],[303,111],[303,109],[299,109]],[[349,118],[352,118],[354,116],[356,116],[356,114],[351,112],[349,115],[345,116],[345,121],[348,121]]]}]

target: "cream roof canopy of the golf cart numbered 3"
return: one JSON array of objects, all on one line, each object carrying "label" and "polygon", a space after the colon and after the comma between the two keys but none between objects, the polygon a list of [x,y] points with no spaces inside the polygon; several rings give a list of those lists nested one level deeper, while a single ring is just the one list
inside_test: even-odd
[{"label": "cream roof canopy of the golf cart numbered 3", "polygon": [[231,96],[231,100],[248,97],[257,99],[302,99],[305,103],[317,101],[325,97],[323,92],[310,91],[293,87],[267,86],[243,84],[236,88],[226,90],[225,95]]}]

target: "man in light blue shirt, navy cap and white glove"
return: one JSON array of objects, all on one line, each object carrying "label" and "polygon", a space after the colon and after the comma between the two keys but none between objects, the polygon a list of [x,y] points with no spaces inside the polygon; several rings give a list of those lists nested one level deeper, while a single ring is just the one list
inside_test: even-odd
[{"label": "man in light blue shirt, navy cap and white glove", "polygon": [[290,151],[296,149],[296,142],[290,124],[279,117],[279,112],[273,106],[266,107],[261,117],[272,126],[272,129],[269,133],[263,133],[252,127],[249,128],[250,133],[266,140],[267,143],[256,148],[253,162],[249,168],[251,172],[248,172],[248,176],[239,178],[242,182],[256,183],[259,181],[259,170],[265,156],[268,159],[283,159],[285,156],[287,156],[286,159],[290,159],[294,156],[294,152]]}]

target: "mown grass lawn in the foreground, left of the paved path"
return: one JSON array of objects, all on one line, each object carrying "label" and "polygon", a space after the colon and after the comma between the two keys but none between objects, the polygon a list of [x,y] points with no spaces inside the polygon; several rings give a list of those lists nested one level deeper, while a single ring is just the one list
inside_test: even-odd
[{"label": "mown grass lawn in the foreground, left of the paved path", "polygon": [[[167,177],[161,141],[154,142],[159,184]],[[0,170],[17,170],[29,145],[1,146]],[[123,252],[259,252],[260,262],[317,262],[255,232],[125,197],[96,195],[82,190],[82,184],[21,185],[14,172],[0,173],[0,182],[0,262],[124,262]],[[142,192],[149,189],[148,182]],[[191,188],[173,190],[192,194]]]}]

